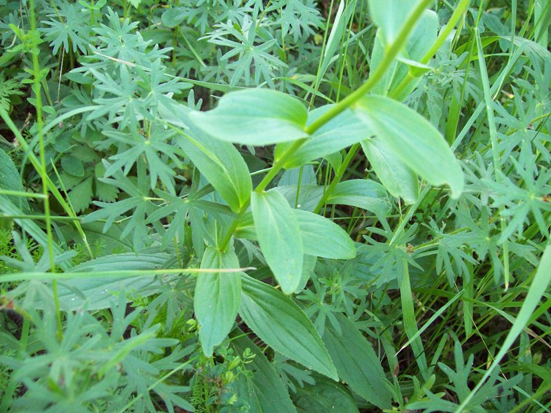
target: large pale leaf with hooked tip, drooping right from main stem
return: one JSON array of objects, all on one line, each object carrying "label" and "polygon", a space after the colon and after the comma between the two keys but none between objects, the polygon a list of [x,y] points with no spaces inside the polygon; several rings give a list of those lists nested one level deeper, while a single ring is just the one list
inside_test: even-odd
[{"label": "large pale leaf with hooked tip, drooping right from main stem", "polygon": [[355,111],[378,138],[429,184],[448,184],[453,198],[464,187],[461,165],[444,136],[413,109],[384,96],[364,96]]}]

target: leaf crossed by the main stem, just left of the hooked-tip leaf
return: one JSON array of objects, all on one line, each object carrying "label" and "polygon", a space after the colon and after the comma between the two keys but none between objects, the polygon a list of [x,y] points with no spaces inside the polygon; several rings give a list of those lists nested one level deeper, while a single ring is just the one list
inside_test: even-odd
[{"label": "leaf crossed by the main stem, just left of the hooked-tip leaf", "polygon": [[[313,109],[308,114],[308,124],[318,119],[333,106],[325,105]],[[300,165],[304,165],[306,162],[324,158],[331,153],[361,142],[371,135],[373,135],[373,131],[366,127],[362,118],[351,110],[346,109],[342,114],[331,119],[315,131],[311,138],[304,142],[304,145],[293,152],[289,160],[285,162],[284,167],[287,169],[300,167]],[[282,143],[275,147],[274,155],[276,161],[282,156],[282,153],[284,153],[289,145],[291,144]]]}]

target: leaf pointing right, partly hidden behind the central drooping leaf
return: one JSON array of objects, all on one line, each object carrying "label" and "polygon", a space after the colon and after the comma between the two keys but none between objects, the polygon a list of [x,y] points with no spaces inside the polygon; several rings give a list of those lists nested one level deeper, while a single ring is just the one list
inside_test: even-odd
[{"label": "leaf pointing right, partly hidden behind the central drooping leaf", "polygon": [[335,222],[321,215],[293,209],[300,227],[305,254],[346,260],[356,255],[354,242]]}]

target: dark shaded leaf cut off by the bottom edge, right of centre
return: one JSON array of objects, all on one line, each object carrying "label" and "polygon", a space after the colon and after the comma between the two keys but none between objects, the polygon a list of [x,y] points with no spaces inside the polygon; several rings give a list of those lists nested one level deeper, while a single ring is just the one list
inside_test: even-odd
[{"label": "dark shaded leaf cut off by the bottom edge, right of centre", "polygon": [[356,401],[344,385],[325,377],[297,389],[293,400],[299,413],[358,413]]}]

